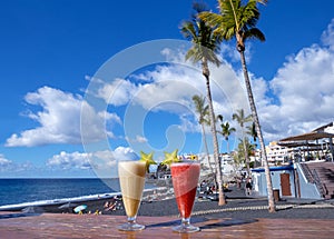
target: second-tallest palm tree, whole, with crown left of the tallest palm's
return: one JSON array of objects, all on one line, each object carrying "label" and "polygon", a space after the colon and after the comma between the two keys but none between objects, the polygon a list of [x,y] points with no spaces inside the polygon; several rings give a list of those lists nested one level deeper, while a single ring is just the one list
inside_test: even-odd
[{"label": "second-tallest palm tree, whole, with crown left of the tallest palm's", "polygon": [[223,191],[223,177],[222,177],[222,163],[219,159],[219,146],[217,139],[217,131],[215,127],[215,112],[213,107],[213,98],[210,91],[210,71],[208,68],[208,62],[213,62],[216,66],[220,64],[216,52],[219,51],[220,41],[213,33],[213,28],[207,26],[197,16],[199,12],[206,10],[203,4],[194,3],[194,10],[196,14],[193,16],[191,21],[184,21],[181,24],[181,33],[184,37],[193,42],[193,47],[188,50],[186,54],[186,60],[191,60],[194,63],[200,61],[202,63],[202,73],[206,80],[206,92],[209,107],[209,119],[210,119],[210,129],[213,135],[214,143],[214,160],[216,165],[216,178],[218,183],[219,200],[218,205],[223,206],[226,203],[224,191]]}]

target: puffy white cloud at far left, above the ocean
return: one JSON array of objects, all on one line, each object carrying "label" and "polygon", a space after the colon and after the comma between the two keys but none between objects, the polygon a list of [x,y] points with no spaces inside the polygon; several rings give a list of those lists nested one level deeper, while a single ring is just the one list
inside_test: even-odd
[{"label": "puffy white cloud at far left, above the ocean", "polygon": [[[36,92],[27,93],[24,100],[31,106],[41,107],[41,110],[27,113],[39,126],[20,133],[13,133],[7,139],[7,147],[80,143],[81,129],[86,130],[86,139],[94,141],[104,135],[112,137],[112,133],[105,129],[106,121],[120,122],[115,113],[97,112],[82,100],[81,96],[50,87],[42,87]],[[81,110],[85,110],[82,121],[80,121]]]}]

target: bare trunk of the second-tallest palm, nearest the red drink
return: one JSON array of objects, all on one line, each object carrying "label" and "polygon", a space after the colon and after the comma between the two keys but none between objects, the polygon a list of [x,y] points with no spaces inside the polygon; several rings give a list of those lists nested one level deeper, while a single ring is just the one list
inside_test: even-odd
[{"label": "bare trunk of the second-tallest palm, nearest the red drink", "polygon": [[202,67],[203,67],[203,74],[206,79],[206,91],[207,91],[208,107],[209,107],[209,114],[210,114],[210,127],[212,127],[213,142],[214,142],[214,159],[216,165],[216,179],[218,183],[218,193],[219,193],[218,206],[223,206],[226,205],[226,200],[223,190],[222,162],[219,159],[219,146],[217,139],[217,130],[215,126],[215,113],[214,113],[213,98],[210,91],[209,70],[208,70],[206,59],[203,59]]}]

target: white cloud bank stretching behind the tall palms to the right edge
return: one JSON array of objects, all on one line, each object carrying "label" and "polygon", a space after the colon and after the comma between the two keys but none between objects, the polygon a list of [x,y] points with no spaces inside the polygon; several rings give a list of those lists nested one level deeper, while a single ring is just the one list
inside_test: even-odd
[{"label": "white cloud bank stretching behind the tall palms to the right edge", "polygon": [[[334,19],[320,36],[318,43],[288,56],[273,79],[263,79],[256,77],[255,72],[249,72],[259,121],[267,142],[307,132],[334,120],[333,36]],[[223,46],[223,51],[227,51],[226,46]],[[179,51],[165,49],[161,53],[171,63],[160,64],[140,74],[131,76],[137,80],[137,84],[130,80],[118,79],[117,83],[109,86],[109,90],[108,87],[104,88],[105,91],[100,91],[104,92],[101,96],[105,96],[104,99],[108,96],[109,102],[114,104],[118,102],[118,106],[139,104],[147,111],[161,110],[178,114],[180,129],[185,131],[198,129],[191,97],[206,96],[200,66],[189,66],[189,62],[183,60],[185,49]],[[249,61],[250,51],[248,54]],[[235,60],[237,58],[235,56]],[[235,68],[224,59],[222,61],[219,68],[210,66],[215,113],[223,114],[224,120],[228,120],[232,127],[237,127],[237,123],[232,120],[232,114],[237,109],[249,112],[244,76],[239,67]],[[138,80],[141,80],[141,84]],[[116,87],[119,92],[110,94],[109,91],[114,92]],[[190,109],[187,113],[194,112],[195,120],[191,120],[189,114],[185,114],[185,108]],[[185,120],[187,118],[190,120]]]}]

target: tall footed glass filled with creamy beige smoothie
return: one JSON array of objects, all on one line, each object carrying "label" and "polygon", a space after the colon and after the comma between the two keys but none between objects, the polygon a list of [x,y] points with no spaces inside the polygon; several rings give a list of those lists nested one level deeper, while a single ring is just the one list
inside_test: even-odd
[{"label": "tall footed glass filled with creamy beige smoothie", "polygon": [[141,202],[145,186],[146,162],[120,161],[118,162],[118,176],[120,191],[126,209],[127,222],[118,227],[124,231],[137,231],[145,226],[136,222],[137,212]]}]

